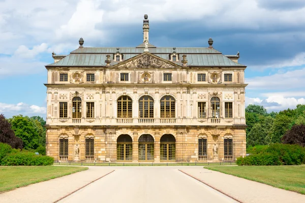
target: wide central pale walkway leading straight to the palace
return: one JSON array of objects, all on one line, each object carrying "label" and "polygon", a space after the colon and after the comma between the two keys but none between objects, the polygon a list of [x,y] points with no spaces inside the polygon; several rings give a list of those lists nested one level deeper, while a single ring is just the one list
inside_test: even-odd
[{"label": "wide central pale walkway leading straight to the palace", "polygon": [[[181,167],[187,168],[187,167]],[[104,178],[59,202],[236,202],[175,166],[116,167]]]}]

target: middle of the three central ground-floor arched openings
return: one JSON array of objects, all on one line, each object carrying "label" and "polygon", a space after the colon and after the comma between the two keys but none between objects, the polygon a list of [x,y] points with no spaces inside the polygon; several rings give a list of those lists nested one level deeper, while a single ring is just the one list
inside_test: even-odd
[{"label": "middle of the three central ground-floor arched openings", "polygon": [[142,134],[139,138],[139,160],[153,161],[154,154],[154,138],[150,134]]}]

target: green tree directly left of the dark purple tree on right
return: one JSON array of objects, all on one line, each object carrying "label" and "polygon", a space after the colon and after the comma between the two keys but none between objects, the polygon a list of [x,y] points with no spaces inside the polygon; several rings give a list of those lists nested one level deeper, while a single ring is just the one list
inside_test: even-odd
[{"label": "green tree directly left of the dark purple tree on right", "polygon": [[271,127],[271,143],[281,143],[281,138],[289,129],[292,118],[285,114],[278,114]]}]

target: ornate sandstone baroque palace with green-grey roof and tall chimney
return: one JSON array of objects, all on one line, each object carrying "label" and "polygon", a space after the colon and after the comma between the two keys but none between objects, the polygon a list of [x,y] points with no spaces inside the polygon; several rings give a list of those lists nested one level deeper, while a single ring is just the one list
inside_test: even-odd
[{"label": "ornate sandstone baroque palace with green-grey roof and tall chimney", "polygon": [[204,48],[83,47],[46,65],[55,161],[212,162],[246,155],[246,66]]}]

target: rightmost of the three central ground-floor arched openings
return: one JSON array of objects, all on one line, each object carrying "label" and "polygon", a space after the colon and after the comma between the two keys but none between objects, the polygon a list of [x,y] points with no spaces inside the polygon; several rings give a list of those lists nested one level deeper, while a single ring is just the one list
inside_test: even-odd
[{"label": "rightmost of the three central ground-floor arched openings", "polygon": [[160,139],[160,160],[176,160],[176,139],[172,134],[164,134]]}]

